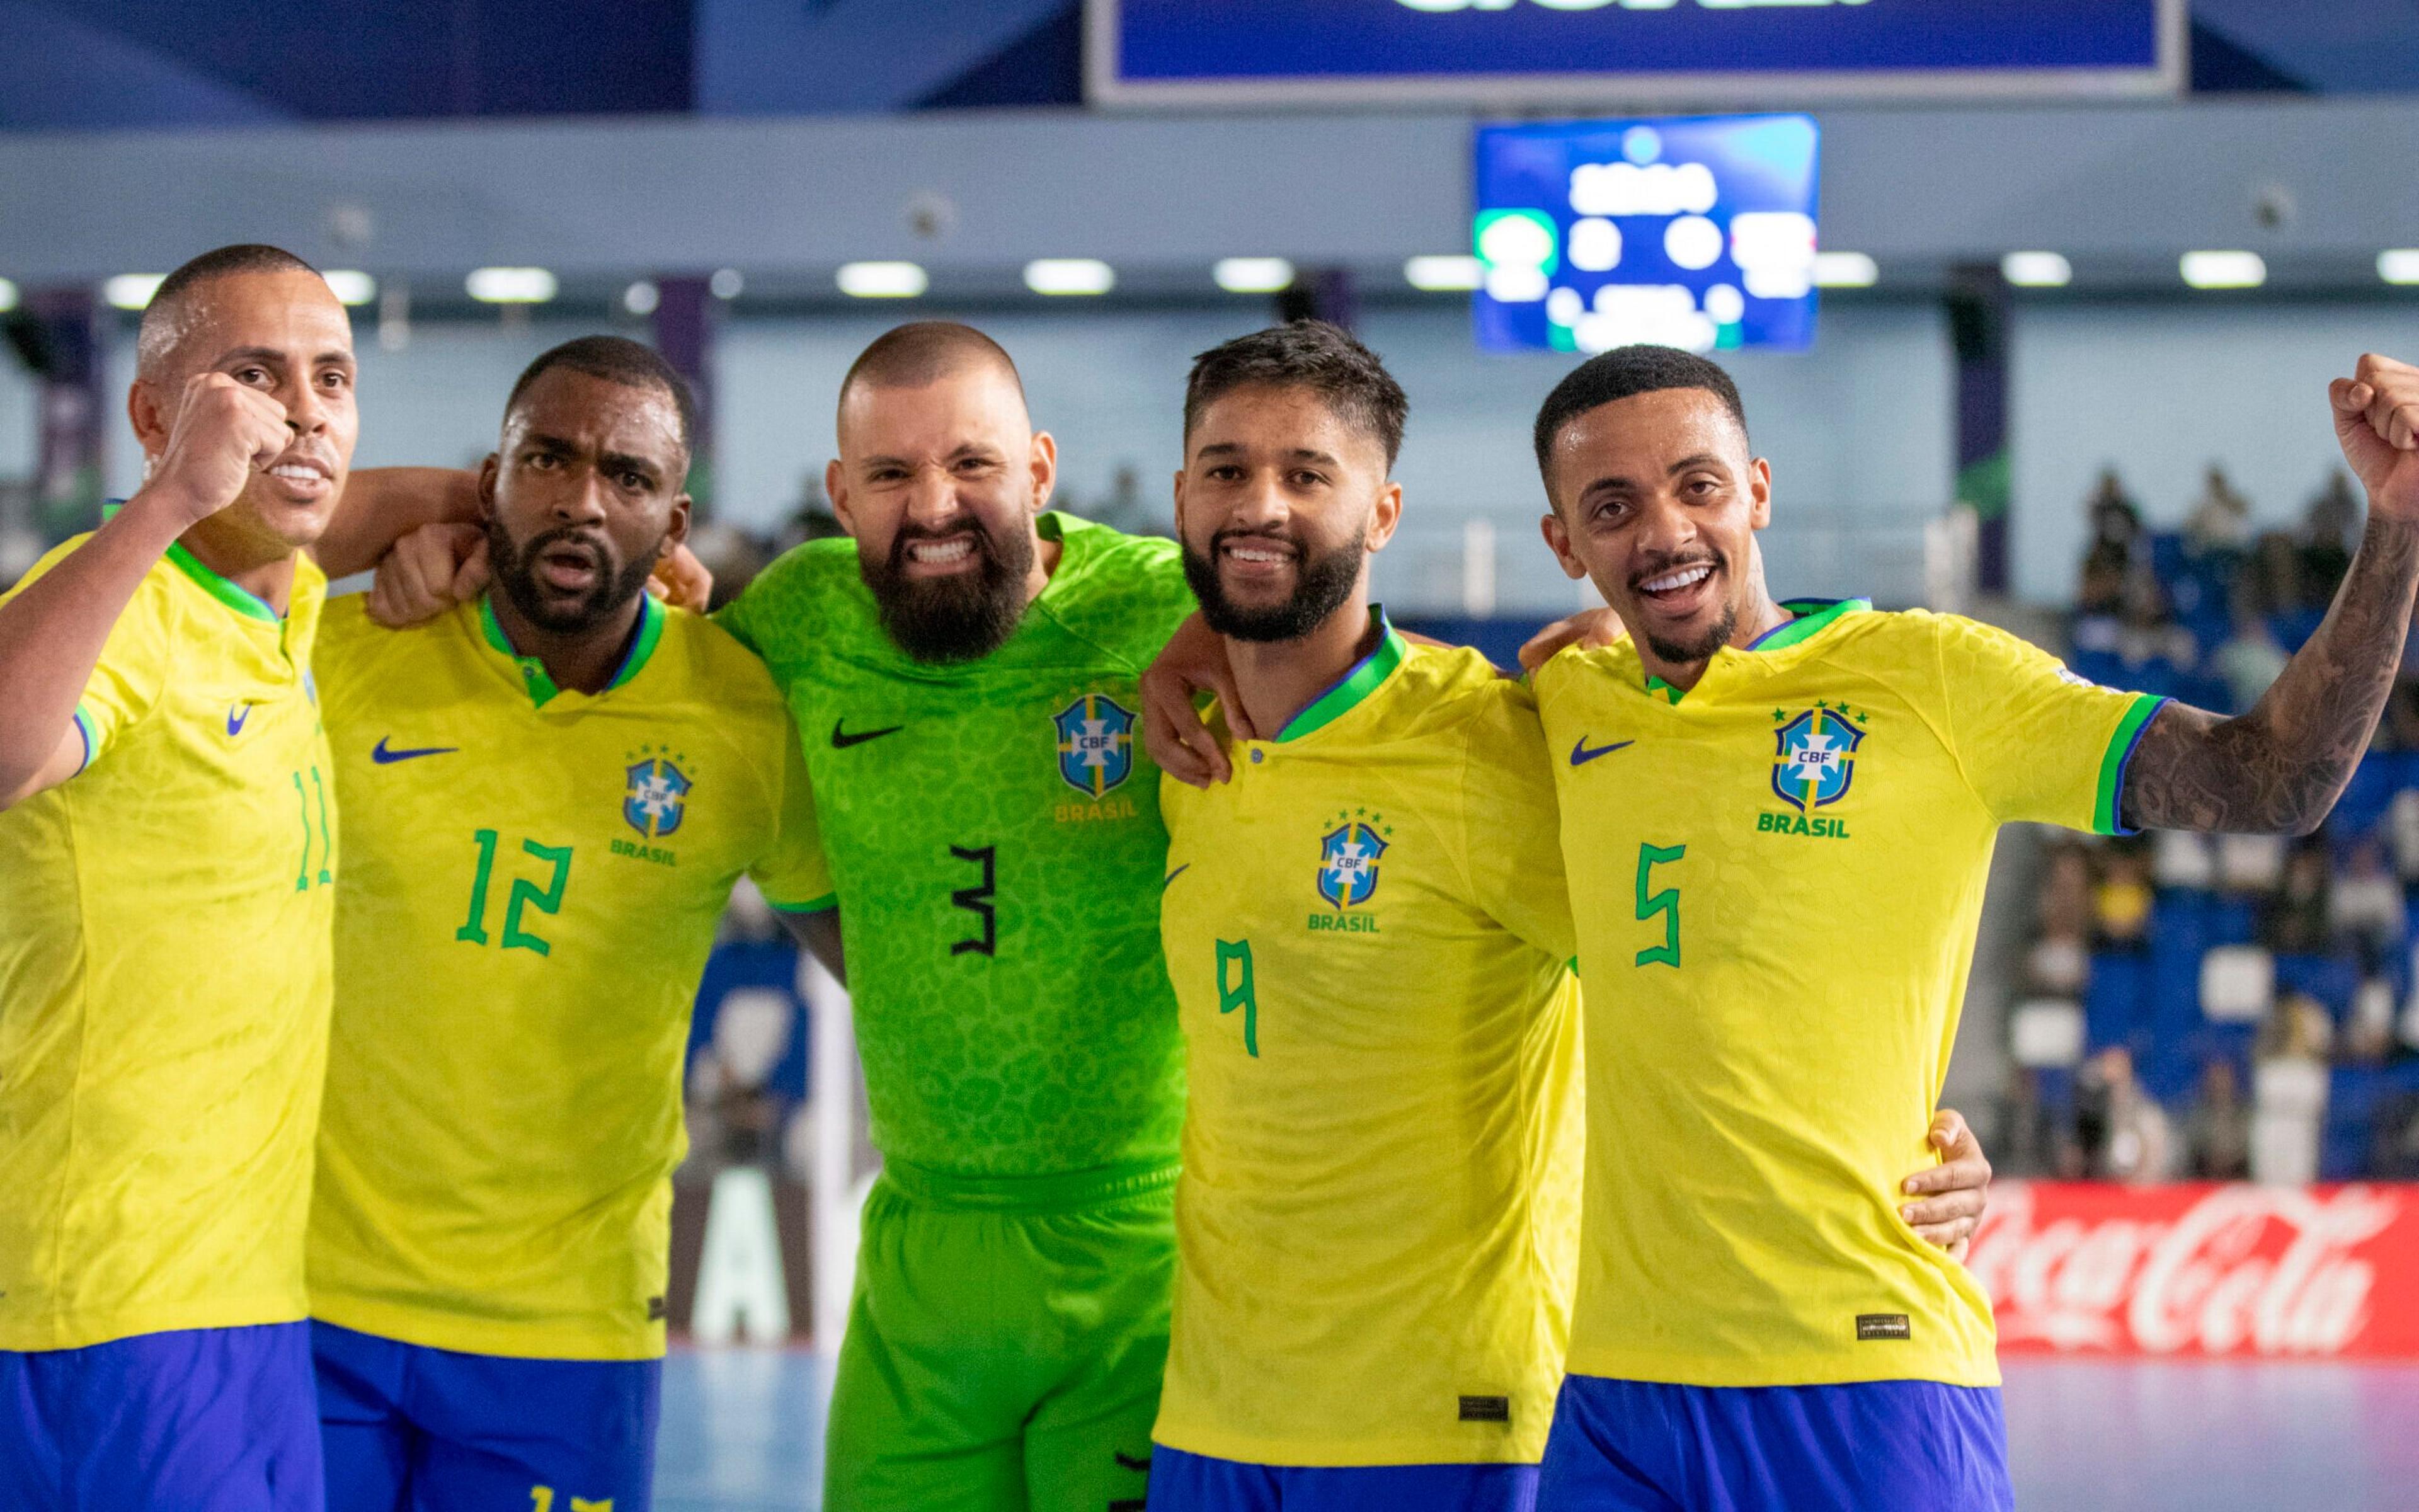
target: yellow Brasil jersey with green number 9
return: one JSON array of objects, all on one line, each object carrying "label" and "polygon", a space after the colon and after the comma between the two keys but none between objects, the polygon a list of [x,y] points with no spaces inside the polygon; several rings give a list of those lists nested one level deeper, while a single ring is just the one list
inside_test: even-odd
[{"label": "yellow Brasil jersey with green number 9", "polygon": [[1376,653],[1161,784],[1190,1101],[1156,1442],[1536,1461],[1577,1251],[1572,929],[1529,689]]}]

